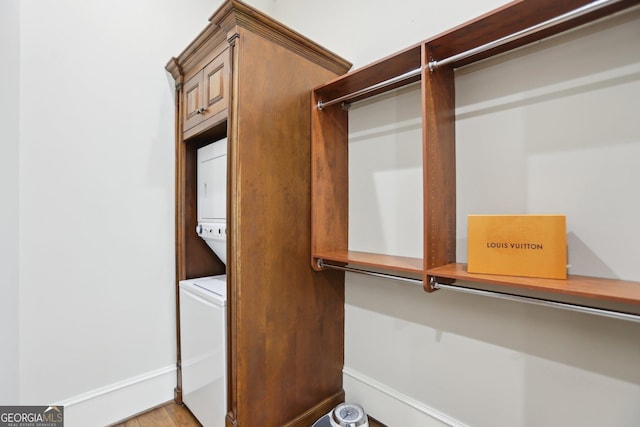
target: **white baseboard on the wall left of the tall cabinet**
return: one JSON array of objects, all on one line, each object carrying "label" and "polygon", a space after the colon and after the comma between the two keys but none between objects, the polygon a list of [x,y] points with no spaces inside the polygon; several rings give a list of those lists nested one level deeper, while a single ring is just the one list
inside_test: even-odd
[{"label": "white baseboard on the wall left of the tall cabinet", "polygon": [[104,427],[173,399],[176,367],[168,366],[57,402],[65,427]]}]

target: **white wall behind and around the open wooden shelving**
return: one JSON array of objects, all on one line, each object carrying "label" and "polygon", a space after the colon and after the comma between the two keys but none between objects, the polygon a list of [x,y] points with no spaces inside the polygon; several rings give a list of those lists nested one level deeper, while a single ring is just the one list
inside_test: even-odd
[{"label": "white wall behind and around the open wooden shelving", "polygon": [[[280,0],[275,13],[362,66],[498,3]],[[639,20],[457,72],[459,261],[469,213],[560,212],[572,273],[640,278]],[[352,249],[421,256],[417,91],[350,110]],[[347,399],[389,426],[640,423],[637,323],[360,275],[346,296]]]}]

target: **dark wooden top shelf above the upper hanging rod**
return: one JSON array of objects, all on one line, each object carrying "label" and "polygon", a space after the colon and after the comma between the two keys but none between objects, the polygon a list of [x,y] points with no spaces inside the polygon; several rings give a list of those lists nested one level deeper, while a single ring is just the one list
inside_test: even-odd
[{"label": "dark wooden top shelf above the upper hanging rod", "polygon": [[[316,107],[349,104],[420,80],[424,68],[433,72],[459,68],[515,49],[587,22],[629,8],[637,0],[512,2],[486,15],[425,40],[404,51],[352,71],[316,88]],[[514,17],[518,19],[514,20]],[[424,48],[424,49],[423,49]],[[426,55],[425,55],[426,54]],[[426,57],[425,57],[426,56]]]}]

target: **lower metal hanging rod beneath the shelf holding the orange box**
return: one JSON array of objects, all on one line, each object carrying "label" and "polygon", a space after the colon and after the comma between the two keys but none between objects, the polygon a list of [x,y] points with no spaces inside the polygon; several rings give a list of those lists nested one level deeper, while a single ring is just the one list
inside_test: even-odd
[{"label": "lower metal hanging rod beneath the shelf holding the orange box", "polygon": [[434,289],[434,290],[449,289],[452,291],[462,292],[467,294],[499,298],[499,299],[504,299],[508,301],[524,302],[524,303],[539,305],[543,307],[561,308],[564,310],[577,311],[579,313],[595,314],[598,316],[604,316],[604,317],[610,317],[618,320],[627,320],[630,322],[640,323],[640,315],[638,314],[623,313],[620,311],[612,311],[612,310],[588,307],[588,306],[577,305],[577,304],[568,304],[568,303],[558,302],[558,301],[549,301],[542,298],[525,297],[521,295],[513,295],[513,294],[507,294],[507,293],[497,292],[497,291],[486,291],[482,289],[467,288],[467,287],[458,286],[458,285],[448,285],[448,284],[438,283],[437,279],[434,278],[433,276],[431,277],[430,286],[431,286],[431,289]]}]

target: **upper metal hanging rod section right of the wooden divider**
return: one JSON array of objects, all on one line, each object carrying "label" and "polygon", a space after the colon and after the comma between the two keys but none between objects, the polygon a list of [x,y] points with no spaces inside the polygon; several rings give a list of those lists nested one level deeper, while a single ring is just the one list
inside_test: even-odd
[{"label": "upper metal hanging rod section right of the wooden divider", "polygon": [[489,43],[485,43],[481,46],[475,47],[473,49],[469,49],[465,52],[461,52],[458,53],[456,55],[450,56],[446,59],[442,59],[440,61],[437,61],[435,59],[432,59],[431,61],[429,61],[429,63],[427,64],[427,66],[429,67],[430,71],[434,71],[435,69],[437,69],[438,67],[443,67],[445,65],[449,65],[451,63],[454,63],[456,61],[460,61],[461,59],[465,59],[465,58],[469,58],[470,56],[476,55],[478,53],[482,53],[485,52],[487,50],[496,48],[498,46],[502,46],[504,44],[510,43],[514,40],[518,40],[520,38],[526,37],[528,35],[537,33],[538,31],[542,31],[542,30],[546,30],[547,28],[553,27],[554,25],[558,25],[561,24],[563,22],[569,21],[571,19],[580,17],[582,15],[585,15],[589,12],[595,12],[598,9],[601,9],[605,6],[609,6],[615,3],[618,3],[622,0],[596,0],[592,3],[586,4],[584,6],[581,6],[577,9],[574,9],[570,12],[564,13],[562,15],[558,15],[555,18],[551,18],[547,21],[541,22],[539,24],[536,24],[532,27],[529,28],[525,28],[524,30],[520,30],[518,32],[515,32],[513,34],[510,34],[508,36],[499,38],[497,40],[494,40],[492,42]]}]

